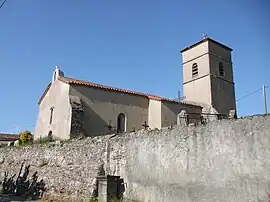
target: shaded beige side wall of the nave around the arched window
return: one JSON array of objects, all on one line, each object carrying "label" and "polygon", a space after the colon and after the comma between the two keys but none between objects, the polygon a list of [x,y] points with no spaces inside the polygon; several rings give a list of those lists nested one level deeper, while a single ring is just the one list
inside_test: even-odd
[{"label": "shaded beige side wall of the nave around the arched window", "polygon": [[79,85],[70,87],[70,95],[82,98],[84,130],[89,136],[107,134],[110,120],[112,126],[117,128],[120,113],[126,116],[127,132],[133,128],[141,129],[144,121],[148,121],[149,101],[146,97]]}]

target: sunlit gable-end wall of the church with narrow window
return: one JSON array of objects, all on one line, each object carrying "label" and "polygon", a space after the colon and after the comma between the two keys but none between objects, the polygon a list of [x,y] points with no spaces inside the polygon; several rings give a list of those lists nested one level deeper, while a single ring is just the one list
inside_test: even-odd
[{"label": "sunlit gable-end wall of the church with narrow window", "polygon": [[[50,124],[50,108],[52,107],[53,116]],[[55,80],[39,105],[34,138],[47,137],[49,131],[52,131],[54,138],[68,139],[70,137],[70,124],[69,85]]]}]

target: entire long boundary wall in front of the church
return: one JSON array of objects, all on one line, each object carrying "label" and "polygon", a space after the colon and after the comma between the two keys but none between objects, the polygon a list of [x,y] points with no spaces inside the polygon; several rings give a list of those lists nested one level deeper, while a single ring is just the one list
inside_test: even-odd
[{"label": "entire long boundary wall in front of the church", "polygon": [[45,180],[47,195],[78,201],[91,196],[103,166],[138,201],[267,201],[269,143],[270,115],[1,148],[0,180],[25,160]]}]

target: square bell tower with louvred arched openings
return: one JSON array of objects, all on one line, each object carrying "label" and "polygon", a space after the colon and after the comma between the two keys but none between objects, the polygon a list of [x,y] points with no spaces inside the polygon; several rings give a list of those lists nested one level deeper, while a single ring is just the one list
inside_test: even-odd
[{"label": "square bell tower with louvred arched openings", "polygon": [[185,100],[207,104],[220,114],[236,110],[231,51],[207,36],[181,50]]}]

